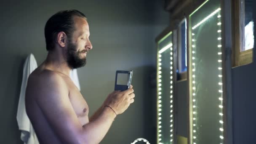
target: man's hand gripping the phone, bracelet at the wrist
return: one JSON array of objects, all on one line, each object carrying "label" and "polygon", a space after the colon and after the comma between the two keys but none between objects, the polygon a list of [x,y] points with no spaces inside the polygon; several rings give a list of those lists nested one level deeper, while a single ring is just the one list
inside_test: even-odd
[{"label": "man's hand gripping the phone, bracelet at the wrist", "polygon": [[133,92],[132,85],[126,91],[113,91],[105,100],[104,106],[111,107],[117,115],[122,114],[134,102],[135,94]]}]

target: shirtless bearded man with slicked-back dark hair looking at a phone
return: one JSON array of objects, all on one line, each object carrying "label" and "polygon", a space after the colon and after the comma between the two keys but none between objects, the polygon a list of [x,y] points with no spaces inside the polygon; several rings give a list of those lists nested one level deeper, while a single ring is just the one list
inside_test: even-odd
[{"label": "shirtless bearded man with slicked-back dark hair looking at a phone", "polygon": [[60,11],[45,25],[48,56],[29,76],[25,98],[40,144],[99,144],[116,115],[134,101],[132,86],[113,91],[88,118],[88,105],[69,72],[85,65],[89,35],[87,19],[76,10]]}]

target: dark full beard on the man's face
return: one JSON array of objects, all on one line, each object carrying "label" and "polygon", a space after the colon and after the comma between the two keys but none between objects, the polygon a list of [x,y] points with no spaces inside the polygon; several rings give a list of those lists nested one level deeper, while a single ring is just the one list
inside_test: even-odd
[{"label": "dark full beard on the man's face", "polygon": [[[83,67],[86,64],[86,57],[80,58],[79,55],[84,51],[77,51],[77,45],[74,43],[68,43],[67,45],[67,64],[70,69],[77,69]],[[85,51],[87,52],[87,51]]]}]

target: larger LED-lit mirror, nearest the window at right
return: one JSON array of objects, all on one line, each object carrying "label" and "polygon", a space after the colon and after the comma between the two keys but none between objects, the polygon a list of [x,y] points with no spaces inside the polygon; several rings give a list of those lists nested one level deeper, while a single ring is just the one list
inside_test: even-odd
[{"label": "larger LED-lit mirror, nearest the window at right", "polygon": [[221,1],[189,16],[190,144],[223,144]]}]

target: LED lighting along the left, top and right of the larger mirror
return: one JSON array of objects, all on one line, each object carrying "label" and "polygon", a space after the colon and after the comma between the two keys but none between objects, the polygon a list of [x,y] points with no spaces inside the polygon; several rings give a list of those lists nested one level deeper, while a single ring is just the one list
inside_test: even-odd
[{"label": "LED lighting along the left, top and right of the larger mirror", "polygon": [[221,65],[221,15],[220,15],[220,11],[221,11],[221,8],[217,8],[215,11],[213,11],[210,15],[206,16],[202,21],[200,21],[198,24],[196,24],[194,27],[192,27],[192,53],[191,53],[191,61],[192,61],[192,96],[191,96],[191,100],[192,100],[192,133],[191,133],[191,142],[192,144],[196,144],[196,139],[197,137],[195,136],[194,133],[196,133],[197,131],[197,107],[196,107],[196,81],[195,81],[195,60],[196,60],[196,57],[195,57],[195,53],[196,53],[196,39],[195,39],[195,33],[193,32],[197,27],[199,27],[201,24],[203,24],[205,21],[207,21],[208,19],[210,19],[212,16],[216,15],[218,13],[218,22],[217,22],[217,25],[219,27],[219,29],[217,30],[217,33],[219,35],[219,37],[217,38],[218,40],[218,44],[216,45],[216,48],[219,48],[219,51],[217,53],[217,55],[219,56],[219,59],[218,59],[218,63],[219,63],[219,67],[218,67],[218,71],[219,71],[219,93],[220,93],[220,97],[218,98],[220,100],[220,104],[219,104],[219,108],[221,109],[220,112],[219,112],[219,116],[221,117],[220,118],[220,121],[219,123],[221,124],[221,127],[219,128],[219,130],[221,131],[221,134],[220,134],[220,139],[221,139],[221,143],[220,144],[223,144],[223,139],[224,139],[224,136],[223,136],[223,112],[222,112],[222,108],[223,108],[223,105],[222,105],[222,65]]}]

